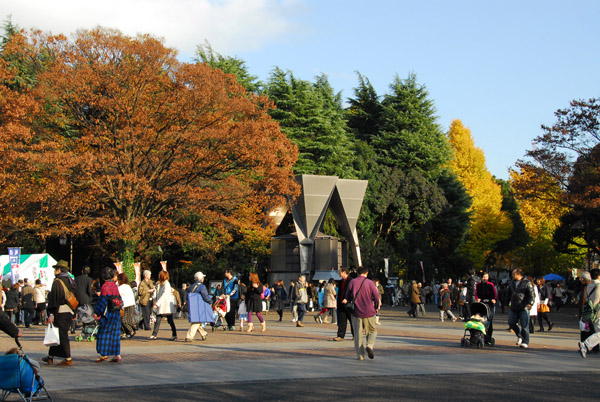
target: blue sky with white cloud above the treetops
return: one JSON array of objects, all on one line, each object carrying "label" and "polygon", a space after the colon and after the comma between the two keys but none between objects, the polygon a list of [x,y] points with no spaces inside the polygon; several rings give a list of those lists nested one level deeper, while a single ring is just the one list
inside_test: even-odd
[{"label": "blue sky with white cloud above the treetops", "polygon": [[261,80],[326,74],[343,99],[356,72],[379,95],[414,73],[440,126],[460,119],[503,179],[556,110],[600,96],[597,0],[0,0],[9,15],[55,34],[149,33],[182,61],[208,42]]}]

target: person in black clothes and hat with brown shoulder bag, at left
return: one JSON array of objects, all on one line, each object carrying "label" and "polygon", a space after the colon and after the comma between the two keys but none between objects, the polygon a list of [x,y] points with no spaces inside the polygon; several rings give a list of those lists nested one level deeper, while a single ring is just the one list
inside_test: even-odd
[{"label": "person in black clothes and hat with brown shoulder bag, at left", "polygon": [[54,282],[48,295],[48,323],[58,328],[60,344],[48,349],[48,356],[42,361],[49,366],[54,364],[55,357],[62,357],[58,366],[72,366],[71,344],[69,342],[69,329],[73,322],[73,310],[67,305],[67,292],[75,291],[75,283],[69,276],[69,263],[60,260],[54,265]]}]

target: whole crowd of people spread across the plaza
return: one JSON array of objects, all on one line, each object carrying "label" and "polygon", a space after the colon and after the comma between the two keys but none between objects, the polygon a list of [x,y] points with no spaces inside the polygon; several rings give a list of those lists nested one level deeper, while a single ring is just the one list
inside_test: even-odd
[{"label": "whole crowd of people spread across the plaza", "polygon": [[[58,328],[60,343],[48,350],[42,360],[53,365],[71,366],[69,333],[73,334],[77,323],[83,324],[85,311],[93,314],[93,340],[96,340],[97,362],[118,363],[121,358],[121,341],[132,339],[138,331],[151,331],[148,340],[159,336],[161,322],[167,321],[171,329],[170,341],[176,341],[175,318],[187,318],[190,325],[185,342],[207,339],[207,326],[213,330],[223,326],[226,330],[252,332],[256,320],[260,331],[267,330],[263,313],[277,312],[278,321],[283,319],[283,311],[289,308],[292,322],[297,327],[304,326],[306,314],[314,312],[314,320],[319,323],[337,325],[334,341],[345,339],[348,329],[353,336],[357,358],[374,358],[379,311],[383,303],[390,306],[409,305],[408,315],[417,318],[426,314],[427,305],[435,305],[440,321],[471,318],[472,303],[483,303],[488,310],[488,326],[485,343],[493,342],[493,319],[497,310],[508,312],[508,326],[517,337],[517,346],[527,348],[529,335],[534,333],[534,324],[539,331],[552,330],[550,306],[559,310],[574,296],[583,306],[586,301],[598,305],[600,291],[596,292],[598,270],[586,272],[578,284],[573,282],[546,282],[543,277],[530,278],[520,269],[514,269],[511,278],[502,281],[490,279],[487,272],[477,274],[469,271],[466,280],[454,282],[452,279],[440,283],[425,284],[411,281],[401,286],[384,287],[379,280],[368,278],[368,270],[359,267],[354,277],[348,269],[339,270],[340,280],[329,279],[311,283],[304,275],[291,281],[286,288],[282,280],[273,285],[262,283],[256,273],[250,273],[243,283],[232,270],[226,270],[224,279],[210,292],[204,284],[205,275],[197,272],[193,284],[183,284],[176,289],[170,283],[169,273],[160,271],[156,282],[150,271],[143,272],[139,284],[130,282],[127,275],[118,273],[114,267],[104,267],[100,277],[93,280],[89,267],[84,267],[76,278],[70,272],[66,261],[55,266],[55,280],[47,290],[41,283],[34,286],[28,279],[16,283],[1,294],[0,317],[2,328],[11,336],[18,336],[10,325],[53,324]],[[212,294],[211,294],[212,293]],[[74,295],[78,301],[76,308],[70,304]],[[429,307],[427,307],[429,308]],[[456,312],[456,315],[455,315]],[[596,318],[594,318],[596,320]],[[598,322],[582,324],[580,353],[583,357],[600,343]],[[10,325],[9,325],[10,324]],[[15,326],[16,328],[16,326]]]}]

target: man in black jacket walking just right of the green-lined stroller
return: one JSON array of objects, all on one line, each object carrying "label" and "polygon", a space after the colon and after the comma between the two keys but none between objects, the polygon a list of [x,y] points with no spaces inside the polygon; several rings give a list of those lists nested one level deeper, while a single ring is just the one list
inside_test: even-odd
[{"label": "man in black jacket walking just right of the green-lined stroller", "polygon": [[[512,276],[515,281],[515,290],[510,297],[510,312],[508,325],[517,335],[517,346],[529,346],[529,310],[535,301],[533,284],[523,275],[520,268],[513,269]],[[521,324],[517,325],[517,323]]]}]

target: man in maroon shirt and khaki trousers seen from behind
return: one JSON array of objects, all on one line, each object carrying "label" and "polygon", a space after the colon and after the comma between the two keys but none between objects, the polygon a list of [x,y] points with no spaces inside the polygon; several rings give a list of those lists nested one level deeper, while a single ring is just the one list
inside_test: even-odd
[{"label": "man in maroon shirt and khaki trousers seen from behind", "polygon": [[[369,270],[366,267],[358,268],[358,278],[350,282],[342,303],[354,301],[352,312],[352,325],[354,332],[354,349],[358,360],[364,360],[365,352],[369,359],[375,357],[374,347],[377,338],[377,324],[375,316],[381,308],[381,299],[375,283],[367,278]],[[363,339],[363,332],[365,339]]]}]

